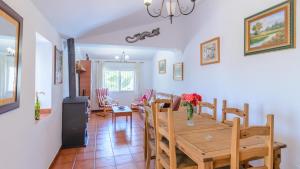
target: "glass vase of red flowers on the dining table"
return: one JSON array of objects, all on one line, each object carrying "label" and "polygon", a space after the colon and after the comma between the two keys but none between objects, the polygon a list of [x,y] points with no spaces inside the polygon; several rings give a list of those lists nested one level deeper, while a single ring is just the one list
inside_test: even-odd
[{"label": "glass vase of red flowers on the dining table", "polygon": [[192,94],[183,94],[182,95],[182,106],[186,107],[186,114],[187,114],[187,125],[193,126],[194,121],[194,107],[197,106],[199,102],[201,102],[202,97],[196,93]]}]

